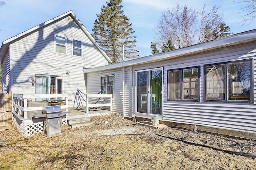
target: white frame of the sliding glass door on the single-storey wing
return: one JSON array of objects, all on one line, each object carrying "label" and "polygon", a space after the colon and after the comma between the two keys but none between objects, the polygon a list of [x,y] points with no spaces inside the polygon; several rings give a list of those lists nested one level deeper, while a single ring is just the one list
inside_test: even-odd
[{"label": "white frame of the sliding glass door on the single-storey wing", "polygon": [[[161,83],[162,83],[162,89],[161,89],[161,94],[162,94],[162,96],[161,96],[161,100],[162,100],[162,104],[161,104],[161,114],[154,114],[154,113],[150,113],[150,104],[149,104],[149,102],[148,102],[148,106],[147,106],[147,108],[148,108],[148,113],[142,113],[142,112],[138,112],[138,94],[137,94],[137,88],[138,88],[138,72],[145,72],[145,71],[148,71],[148,92],[150,92],[150,71],[154,71],[154,70],[161,70],[162,71],[162,80],[161,80]],[[134,77],[135,77],[135,79],[134,79],[134,84],[135,84],[135,91],[134,91],[134,93],[135,93],[135,100],[134,100],[134,102],[135,102],[135,104],[134,104],[134,106],[135,106],[135,109],[134,109],[134,112],[135,112],[135,115],[137,114],[137,115],[143,115],[143,116],[145,116],[145,117],[148,117],[148,116],[152,116],[152,115],[157,115],[157,116],[159,116],[159,117],[162,117],[163,116],[163,99],[164,99],[164,95],[163,95],[163,89],[164,89],[164,87],[163,87],[163,74],[164,74],[164,71],[163,71],[164,69],[163,69],[163,67],[158,67],[158,68],[148,68],[148,69],[144,69],[144,70],[136,70],[136,71],[134,71]],[[148,101],[150,101],[150,95],[148,95]]]}]

